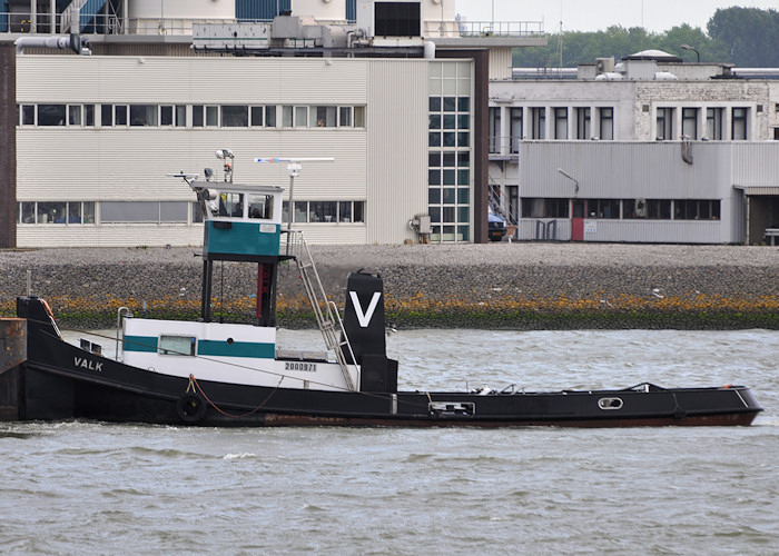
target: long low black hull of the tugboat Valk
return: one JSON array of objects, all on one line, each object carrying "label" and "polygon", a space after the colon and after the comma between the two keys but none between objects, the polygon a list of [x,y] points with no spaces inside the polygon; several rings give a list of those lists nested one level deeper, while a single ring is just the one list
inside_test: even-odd
[{"label": "long low black hull of the tugboat Valk", "polygon": [[[16,399],[20,420],[96,419],[198,426],[635,427],[749,425],[749,388],[472,393],[348,393],[193,381],[90,355],[39,330]],[[83,361],[89,361],[85,364]],[[77,364],[78,363],[78,364]],[[3,396],[3,394],[6,396]],[[16,411],[13,410],[16,409]],[[3,413],[0,413],[3,415]]]}]

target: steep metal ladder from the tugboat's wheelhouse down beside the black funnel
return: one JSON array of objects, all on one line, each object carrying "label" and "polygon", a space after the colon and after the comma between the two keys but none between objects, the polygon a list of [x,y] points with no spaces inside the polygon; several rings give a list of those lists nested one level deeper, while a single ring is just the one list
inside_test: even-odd
[{"label": "steep metal ladder from the tugboat's wheelhouse down beside the black funnel", "polygon": [[308,245],[306,245],[303,238],[303,232],[299,230],[283,231],[288,235],[286,251],[287,255],[294,257],[297,262],[297,269],[300,272],[303,286],[306,288],[306,295],[312,304],[312,309],[314,309],[317,326],[325,339],[325,346],[327,349],[332,349],[335,353],[335,358],[344,375],[346,387],[351,391],[356,391],[357,388],[352,379],[346,355],[348,354],[348,360],[355,364],[355,368],[356,359],[352,350],[352,345],[346,336],[346,330],[344,330],[344,321],[341,319],[338,307],[334,301],[327,300],[327,294],[322,286],[319,274],[316,270],[316,265],[314,264],[314,258],[308,249]]}]

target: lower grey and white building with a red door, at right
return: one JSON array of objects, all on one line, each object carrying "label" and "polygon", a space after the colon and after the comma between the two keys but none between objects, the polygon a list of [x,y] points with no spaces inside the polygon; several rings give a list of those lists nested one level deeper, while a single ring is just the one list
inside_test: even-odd
[{"label": "lower grey and white building with a red door, at right", "polygon": [[660,51],[490,85],[492,202],[524,240],[760,244],[779,81]]}]

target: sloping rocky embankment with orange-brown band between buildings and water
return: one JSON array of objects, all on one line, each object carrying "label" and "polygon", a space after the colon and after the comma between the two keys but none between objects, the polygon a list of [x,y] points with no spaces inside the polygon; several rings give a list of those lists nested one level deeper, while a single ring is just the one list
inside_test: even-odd
[{"label": "sloping rocky embankment with orange-brown band between buildings and water", "polygon": [[[361,268],[385,281],[396,327],[776,328],[779,248],[600,244],[314,246],[325,290],[342,304]],[[27,291],[47,298],[66,327],[136,316],[196,319],[198,248],[0,251],[0,315]],[[220,264],[214,308],[250,321],[256,267]],[[279,272],[278,324],[312,326],[294,264]]]}]

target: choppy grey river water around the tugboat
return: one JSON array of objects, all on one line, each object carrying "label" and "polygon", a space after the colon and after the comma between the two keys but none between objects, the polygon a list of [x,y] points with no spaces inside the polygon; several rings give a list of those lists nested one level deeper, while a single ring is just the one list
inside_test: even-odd
[{"label": "choppy grey river water around the tugboat", "polygon": [[736,428],[6,423],[0,552],[779,554],[779,332],[414,330],[388,351],[403,389],[746,384],[766,411]]}]

